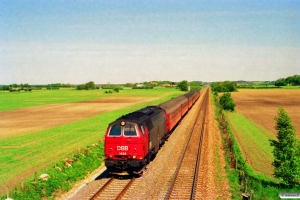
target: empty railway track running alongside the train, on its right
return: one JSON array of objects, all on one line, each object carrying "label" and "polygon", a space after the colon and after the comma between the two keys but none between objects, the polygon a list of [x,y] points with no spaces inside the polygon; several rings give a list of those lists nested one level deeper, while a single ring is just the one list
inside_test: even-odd
[{"label": "empty railway track running alongside the train, on its right", "polygon": [[165,199],[195,199],[208,97],[206,91]]}]

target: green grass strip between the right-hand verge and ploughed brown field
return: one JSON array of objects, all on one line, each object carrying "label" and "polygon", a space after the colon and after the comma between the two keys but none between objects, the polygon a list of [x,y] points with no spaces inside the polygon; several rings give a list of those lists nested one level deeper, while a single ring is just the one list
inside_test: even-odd
[{"label": "green grass strip between the right-hand verge and ploughed brown field", "polygon": [[273,148],[269,139],[276,137],[240,113],[226,115],[247,163],[255,171],[272,177]]}]

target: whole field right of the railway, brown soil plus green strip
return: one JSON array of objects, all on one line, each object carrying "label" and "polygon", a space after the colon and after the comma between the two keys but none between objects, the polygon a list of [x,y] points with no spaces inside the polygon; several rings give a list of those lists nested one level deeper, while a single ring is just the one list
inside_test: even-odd
[{"label": "whole field right of the railway, brown soil plus green strip", "polygon": [[272,147],[276,139],[274,118],[283,107],[300,136],[300,90],[247,90],[231,93],[236,111],[227,113],[229,123],[247,163],[257,172],[272,177]]}]

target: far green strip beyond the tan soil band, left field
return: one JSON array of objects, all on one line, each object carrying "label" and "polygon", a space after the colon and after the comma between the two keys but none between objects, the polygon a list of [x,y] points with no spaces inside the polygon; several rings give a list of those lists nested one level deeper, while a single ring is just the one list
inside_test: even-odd
[{"label": "far green strip beyond the tan soil band, left field", "polygon": [[0,112],[19,108],[57,103],[72,103],[111,97],[155,97],[165,93],[180,91],[173,88],[154,88],[151,90],[120,90],[119,93],[105,94],[106,90],[33,90],[31,92],[0,92]]}]

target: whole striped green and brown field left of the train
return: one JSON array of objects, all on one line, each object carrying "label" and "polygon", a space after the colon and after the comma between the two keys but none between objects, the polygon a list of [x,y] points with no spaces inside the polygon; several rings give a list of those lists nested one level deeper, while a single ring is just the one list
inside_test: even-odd
[{"label": "whole striped green and brown field left of the train", "polygon": [[182,94],[176,89],[0,94],[0,186],[103,141],[108,123]]}]

